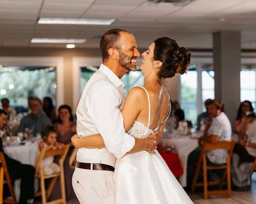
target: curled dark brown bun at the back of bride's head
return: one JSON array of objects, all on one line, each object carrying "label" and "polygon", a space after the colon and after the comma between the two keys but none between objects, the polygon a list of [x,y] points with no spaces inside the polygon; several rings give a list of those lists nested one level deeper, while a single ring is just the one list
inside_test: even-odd
[{"label": "curled dark brown bun at the back of bride's head", "polygon": [[177,48],[174,54],[176,73],[185,74],[189,68],[191,53],[184,47]]}]

